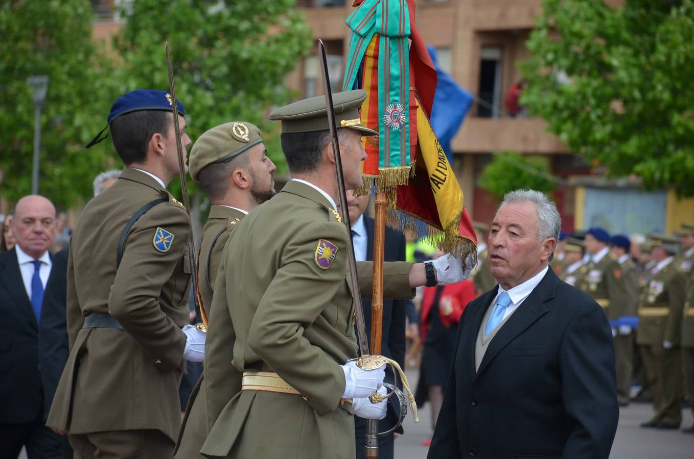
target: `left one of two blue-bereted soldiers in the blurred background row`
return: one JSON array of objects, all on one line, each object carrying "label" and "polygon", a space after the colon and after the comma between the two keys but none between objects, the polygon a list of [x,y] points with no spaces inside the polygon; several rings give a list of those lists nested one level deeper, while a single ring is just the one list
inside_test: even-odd
[{"label": "left one of two blue-bereted soldiers in the blurred background row", "polygon": [[[609,241],[609,234],[602,228],[591,228],[586,233],[584,244],[590,258],[583,269],[584,277],[576,287],[602,306],[609,320],[616,320],[619,316],[615,314],[620,313],[618,304],[624,295],[624,283],[619,264],[609,255]],[[615,307],[612,307],[613,304],[616,304]]]}]

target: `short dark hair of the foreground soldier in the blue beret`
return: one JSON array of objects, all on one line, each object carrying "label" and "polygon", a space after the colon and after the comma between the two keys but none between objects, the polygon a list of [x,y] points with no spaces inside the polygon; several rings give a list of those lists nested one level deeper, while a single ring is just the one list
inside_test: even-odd
[{"label": "short dark hair of the foreground soldier in the blue beret", "polygon": [[144,163],[147,144],[154,134],[166,137],[174,120],[171,111],[138,110],[111,121],[111,138],[124,165]]}]

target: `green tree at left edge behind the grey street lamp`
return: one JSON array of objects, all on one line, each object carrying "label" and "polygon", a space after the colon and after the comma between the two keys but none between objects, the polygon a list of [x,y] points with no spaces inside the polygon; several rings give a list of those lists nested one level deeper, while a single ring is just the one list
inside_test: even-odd
[{"label": "green tree at left edge behind the grey street lamp", "polygon": [[0,192],[13,203],[31,192],[34,106],[26,82],[49,77],[41,116],[39,192],[60,207],[92,195],[111,167],[107,147],[84,145],[105,125],[110,62],[92,42],[87,0],[5,0],[0,6]]}]

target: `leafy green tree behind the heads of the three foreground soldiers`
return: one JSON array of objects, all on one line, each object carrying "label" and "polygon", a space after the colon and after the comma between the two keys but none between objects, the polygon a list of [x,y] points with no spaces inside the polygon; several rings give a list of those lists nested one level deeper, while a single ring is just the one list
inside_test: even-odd
[{"label": "leafy green tree behind the heads of the three foreground soldiers", "polygon": [[[277,132],[266,111],[287,102],[286,75],[310,48],[311,31],[294,0],[137,0],[121,10],[115,36],[121,92],[168,89],[169,42],[176,97],[185,105],[193,141],[232,120]],[[285,172],[278,136],[266,135],[268,156]]]}]

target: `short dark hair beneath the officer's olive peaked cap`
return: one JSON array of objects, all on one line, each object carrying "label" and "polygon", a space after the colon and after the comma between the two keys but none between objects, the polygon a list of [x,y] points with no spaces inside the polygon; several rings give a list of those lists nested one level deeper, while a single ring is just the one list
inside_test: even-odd
[{"label": "short dark hair beneath the officer's olive peaked cap", "polygon": [[[345,129],[337,129],[340,142],[347,141]],[[330,131],[282,132],[280,141],[290,174],[313,172],[319,165],[323,148],[330,143]]]}]

